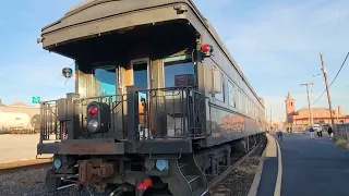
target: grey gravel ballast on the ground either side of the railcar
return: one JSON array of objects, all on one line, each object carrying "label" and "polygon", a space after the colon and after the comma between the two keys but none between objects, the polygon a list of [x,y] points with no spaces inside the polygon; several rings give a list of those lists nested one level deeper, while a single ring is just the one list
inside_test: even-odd
[{"label": "grey gravel ballast on the ground either side of the railcar", "polygon": [[[257,166],[261,160],[261,155],[265,148],[265,143],[260,145],[253,155],[241,163],[233,172],[219,182],[214,188],[210,189],[212,196],[246,196],[254,175],[257,170]],[[0,175],[0,195],[16,195],[16,196],[67,196],[71,195],[72,187],[57,192],[56,194],[49,194],[44,185],[46,169],[36,169],[29,171],[21,171],[11,174]],[[106,194],[99,194],[92,192],[94,196],[103,196]],[[84,188],[74,195],[89,195],[88,191]]]}]

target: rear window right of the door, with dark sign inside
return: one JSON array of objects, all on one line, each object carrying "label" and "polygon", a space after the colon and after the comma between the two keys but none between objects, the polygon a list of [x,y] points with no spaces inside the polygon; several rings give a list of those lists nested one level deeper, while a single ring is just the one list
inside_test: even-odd
[{"label": "rear window right of the door, with dark sign inside", "polygon": [[[194,64],[188,62],[188,60],[182,60],[182,56],[178,58],[168,58],[165,59],[164,64],[164,79],[165,87],[174,87],[174,86],[194,86],[195,74],[194,74]],[[178,79],[178,78],[186,79]],[[176,81],[177,78],[177,81]]]}]

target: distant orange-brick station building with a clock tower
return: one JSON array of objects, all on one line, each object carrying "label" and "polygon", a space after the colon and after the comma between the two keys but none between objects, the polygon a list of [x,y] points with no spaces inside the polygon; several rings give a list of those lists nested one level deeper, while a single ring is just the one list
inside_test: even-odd
[{"label": "distant orange-brick station building with a clock tower", "polygon": [[[286,105],[286,117],[287,124],[292,130],[304,130],[310,124],[310,113],[308,108],[302,108],[298,111],[294,110],[296,100],[288,93],[285,105]],[[312,108],[313,111],[313,121],[314,123],[326,123],[330,124],[330,113],[327,108]],[[349,115],[346,115],[341,112],[340,106],[337,110],[333,111],[335,123],[345,123],[349,122]]]}]

